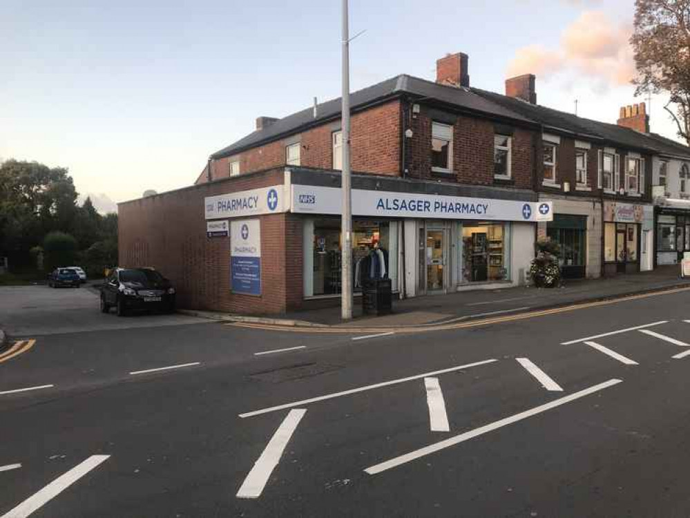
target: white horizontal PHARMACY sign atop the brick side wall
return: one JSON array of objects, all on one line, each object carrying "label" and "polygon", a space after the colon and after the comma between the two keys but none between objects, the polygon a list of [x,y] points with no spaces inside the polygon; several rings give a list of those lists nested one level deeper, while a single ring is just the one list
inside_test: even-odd
[{"label": "white horizontal PHARMACY sign atop the brick side wall", "polygon": [[207,220],[246,218],[286,210],[285,187],[282,185],[204,198],[204,214]]}]

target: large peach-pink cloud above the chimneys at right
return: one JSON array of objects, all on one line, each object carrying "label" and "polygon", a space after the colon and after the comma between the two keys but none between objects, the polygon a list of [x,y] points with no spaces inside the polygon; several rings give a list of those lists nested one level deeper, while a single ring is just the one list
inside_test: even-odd
[{"label": "large peach-pink cloud above the chimneys at right", "polygon": [[616,24],[600,10],[583,12],[561,34],[559,47],[530,45],[517,49],[508,75],[533,73],[548,77],[563,70],[603,79],[608,86],[629,84],[635,75],[629,23]]}]

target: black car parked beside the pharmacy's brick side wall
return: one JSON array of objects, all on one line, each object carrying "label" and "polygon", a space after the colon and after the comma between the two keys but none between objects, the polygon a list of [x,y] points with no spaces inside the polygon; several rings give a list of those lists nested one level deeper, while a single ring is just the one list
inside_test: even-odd
[{"label": "black car parked beside the pharmacy's brick side wall", "polygon": [[151,268],[116,268],[101,287],[101,311],[117,308],[124,316],[131,310],[175,311],[175,288]]}]

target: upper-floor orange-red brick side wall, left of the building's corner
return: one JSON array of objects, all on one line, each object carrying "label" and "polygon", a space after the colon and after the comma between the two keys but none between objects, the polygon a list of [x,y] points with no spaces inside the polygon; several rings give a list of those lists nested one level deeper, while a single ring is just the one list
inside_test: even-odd
[{"label": "upper-floor orange-red brick side wall, left of the building's corner", "polygon": [[[300,164],[331,169],[333,123],[322,124],[301,134]],[[290,141],[292,142],[292,141]],[[213,160],[213,179],[227,178],[229,163],[240,160],[240,174],[285,166],[285,140]],[[400,102],[394,100],[354,113],[351,119],[352,169],[363,173],[398,175],[400,171]],[[204,182],[203,178],[197,180]]]}]

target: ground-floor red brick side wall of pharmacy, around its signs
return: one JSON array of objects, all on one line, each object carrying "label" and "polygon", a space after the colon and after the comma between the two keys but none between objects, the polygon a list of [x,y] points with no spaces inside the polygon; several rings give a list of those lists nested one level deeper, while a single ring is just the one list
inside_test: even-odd
[{"label": "ground-floor red brick side wall of pharmacy, around its signs", "polygon": [[298,307],[303,299],[300,218],[258,216],[261,296],[231,294],[230,240],[206,237],[206,196],[282,182],[282,170],[267,171],[119,204],[119,264],[161,271],[177,289],[180,307],[240,314],[275,314]]}]

